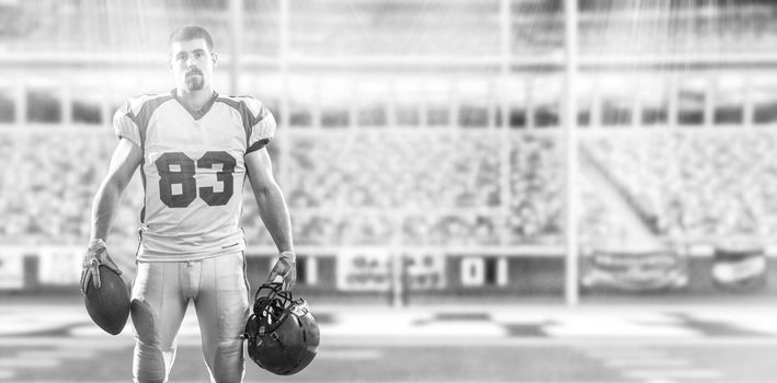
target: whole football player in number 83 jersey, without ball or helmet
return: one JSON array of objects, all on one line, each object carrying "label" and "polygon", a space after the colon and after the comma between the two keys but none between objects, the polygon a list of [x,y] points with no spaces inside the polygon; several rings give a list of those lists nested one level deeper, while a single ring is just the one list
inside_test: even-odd
[{"label": "whole football player in number 83 jersey, without ball or helmet", "polygon": [[260,101],[214,91],[218,57],[205,28],[173,32],[169,59],[175,89],[130,98],[115,114],[118,144],[94,197],[81,289],[90,281],[100,287],[100,264],[121,272],[105,242],[122,193],[140,167],[145,200],[130,304],[134,380],[168,380],[176,334],[193,301],[212,381],[241,382],[250,300],[239,228],[247,176],[279,253],[268,280],[285,290],[296,282],[288,208],[265,148],[275,119]]}]

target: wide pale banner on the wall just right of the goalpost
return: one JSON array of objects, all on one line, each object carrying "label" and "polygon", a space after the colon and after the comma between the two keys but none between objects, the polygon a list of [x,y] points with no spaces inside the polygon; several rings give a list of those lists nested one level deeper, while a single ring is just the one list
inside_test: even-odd
[{"label": "wide pale banner on the wall just right of the goalpost", "polygon": [[688,283],[687,258],[672,249],[593,249],[583,259],[581,283],[585,288],[651,291]]}]

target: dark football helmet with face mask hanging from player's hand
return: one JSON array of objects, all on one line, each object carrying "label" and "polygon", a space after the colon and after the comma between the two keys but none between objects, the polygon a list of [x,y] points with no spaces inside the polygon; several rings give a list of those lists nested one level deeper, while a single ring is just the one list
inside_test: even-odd
[{"label": "dark football helmet with face mask hanging from player's hand", "polygon": [[256,291],[243,337],[259,367],[290,375],[313,360],[321,336],[304,299],[294,300],[290,291],[282,290],[282,283],[264,283]]}]

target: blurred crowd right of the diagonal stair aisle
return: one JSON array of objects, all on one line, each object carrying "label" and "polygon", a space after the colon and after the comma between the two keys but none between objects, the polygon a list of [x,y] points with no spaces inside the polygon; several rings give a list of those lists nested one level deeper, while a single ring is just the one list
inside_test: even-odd
[{"label": "blurred crowd right of the diagonal stair aisle", "polygon": [[597,137],[585,150],[664,237],[765,237],[777,229],[777,135],[651,131]]}]

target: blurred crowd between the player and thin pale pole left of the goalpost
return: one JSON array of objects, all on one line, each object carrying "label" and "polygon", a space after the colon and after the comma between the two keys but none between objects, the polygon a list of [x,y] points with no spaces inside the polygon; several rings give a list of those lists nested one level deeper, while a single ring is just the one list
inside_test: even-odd
[{"label": "blurred crowd between the player and thin pale pole left of the goalpost", "polygon": [[278,177],[292,210],[301,212],[295,216],[301,243],[387,244],[398,236],[416,245],[499,243],[494,134],[331,130],[293,136],[288,146]]}]

